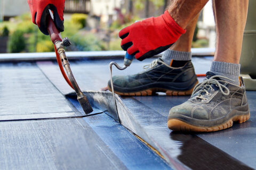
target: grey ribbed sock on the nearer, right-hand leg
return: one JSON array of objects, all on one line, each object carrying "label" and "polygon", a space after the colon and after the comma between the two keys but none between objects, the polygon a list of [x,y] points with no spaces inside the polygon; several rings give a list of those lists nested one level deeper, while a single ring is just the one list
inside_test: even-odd
[{"label": "grey ribbed sock on the nearer, right-hand leg", "polygon": [[228,81],[232,84],[236,84],[239,86],[239,73],[240,73],[240,64],[233,64],[233,63],[225,63],[225,62],[212,62],[211,72],[216,75],[223,75],[231,80]]}]

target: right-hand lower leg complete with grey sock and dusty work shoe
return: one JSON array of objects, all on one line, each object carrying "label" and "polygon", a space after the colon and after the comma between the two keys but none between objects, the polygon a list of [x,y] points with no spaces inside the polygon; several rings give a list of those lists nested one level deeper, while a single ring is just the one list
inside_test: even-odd
[{"label": "right-hand lower leg complete with grey sock and dusty work shoe", "polygon": [[248,0],[213,0],[217,44],[211,72],[194,89],[192,98],[171,108],[169,129],[211,132],[249,119],[244,84],[238,78],[247,6]]}]

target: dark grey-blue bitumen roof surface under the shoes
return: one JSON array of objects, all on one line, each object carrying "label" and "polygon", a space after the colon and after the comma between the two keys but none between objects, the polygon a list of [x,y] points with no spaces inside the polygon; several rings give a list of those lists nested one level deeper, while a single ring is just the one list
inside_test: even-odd
[{"label": "dark grey-blue bitumen roof surface under the shoes", "polygon": [[[114,69],[113,75],[137,73],[152,60],[134,61],[124,71]],[[196,73],[209,70],[211,60],[193,57]],[[81,89],[106,87],[110,61],[71,61]],[[255,92],[247,92],[251,109],[248,122],[219,132],[190,135],[173,133],[166,125],[169,109],[188,97],[121,97],[120,125],[97,108],[97,115],[81,118],[84,113],[78,103],[65,97],[72,90],[56,62],[0,63],[0,75],[0,121],[26,119],[0,122],[3,169],[256,168]],[[35,120],[35,115],[48,119]],[[62,118],[56,119],[60,115]],[[64,118],[70,115],[80,117]],[[169,165],[124,127],[161,152]]]}]

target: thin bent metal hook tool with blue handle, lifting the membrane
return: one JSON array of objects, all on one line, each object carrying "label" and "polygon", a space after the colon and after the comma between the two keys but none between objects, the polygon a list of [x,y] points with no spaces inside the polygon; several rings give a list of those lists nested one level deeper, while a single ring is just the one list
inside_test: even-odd
[{"label": "thin bent metal hook tool with blue handle, lifting the membrane", "polygon": [[115,91],[114,91],[113,79],[112,79],[112,66],[115,65],[118,70],[125,70],[127,67],[129,67],[132,64],[133,59],[134,59],[134,56],[130,55],[126,52],[125,57],[124,57],[124,66],[121,67],[116,62],[109,63],[110,84],[111,84],[112,95],[113,95],[113,98],[114,98],[114,101],[115,101],[115,106],[116,106],[116,112],[117,113],[118,113],[118,110],[117,110],[117,105],[116,105]]}]

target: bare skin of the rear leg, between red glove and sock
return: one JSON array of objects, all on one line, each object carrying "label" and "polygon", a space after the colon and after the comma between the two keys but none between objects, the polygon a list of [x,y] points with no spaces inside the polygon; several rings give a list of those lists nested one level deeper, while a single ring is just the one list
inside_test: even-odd
[{"label": "bare skin of the rear leg, between red glove and sock", "polygon": [[190,52],[191,44],[193,41],[194,31],[197,23],[199,13],[196,17],[187,25],[186,33],[183,34],[171,47],[170,49],[179,52]]}]

